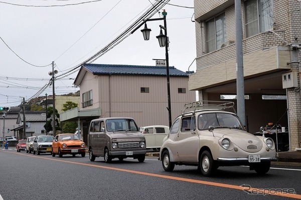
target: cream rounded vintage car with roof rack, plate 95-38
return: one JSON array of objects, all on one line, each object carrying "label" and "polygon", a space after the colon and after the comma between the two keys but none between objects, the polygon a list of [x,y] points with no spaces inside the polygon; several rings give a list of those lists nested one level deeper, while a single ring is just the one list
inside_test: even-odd
[{"label": "cream rounded vintage car with roof rack, plate 95-38", "polygon": [[160,149],[163,168],[172,171],[175,165],[195,165],[210,176],[219,166],[248,165],[266,173],[277,159],[274,141],[248,133],[239,117],[228,110],[233,105],[226,101],[185,104]]}]

